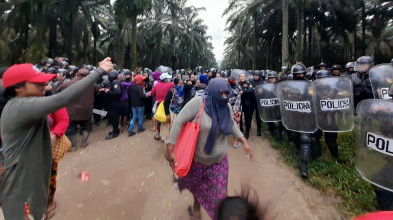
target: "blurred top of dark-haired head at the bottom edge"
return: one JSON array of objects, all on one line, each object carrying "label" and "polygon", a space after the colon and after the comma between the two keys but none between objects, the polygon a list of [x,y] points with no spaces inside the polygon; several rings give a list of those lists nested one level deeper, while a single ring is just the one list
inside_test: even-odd
[{"label": "blurred top of dark-haired head at the bottom edge", "polygon": [[253,189],[250,194],[249,187],[242,187],[240,196],[227,197],[218,206],[217,220],[232,219],[239,220],[264,220],[267,208],[259,204],[257,192]]}]

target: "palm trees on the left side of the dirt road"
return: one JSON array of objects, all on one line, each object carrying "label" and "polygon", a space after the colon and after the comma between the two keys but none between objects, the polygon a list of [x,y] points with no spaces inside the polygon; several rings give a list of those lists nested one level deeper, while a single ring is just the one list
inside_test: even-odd
[{"label": "palm trees on the left side of the dirt road", "polygon": [[187,0],[0,0],[0,64],[110,56],[119,67],[215,66],[204,8]]}]

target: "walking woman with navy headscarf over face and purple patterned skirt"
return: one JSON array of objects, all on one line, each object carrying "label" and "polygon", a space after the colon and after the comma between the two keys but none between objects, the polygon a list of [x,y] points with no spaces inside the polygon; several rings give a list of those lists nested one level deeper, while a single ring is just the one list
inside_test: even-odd
[{"label": "walking woman with navy headscarf over face and purple patterned skirt", "polygon": [[243,143],[246,155],[252,158],[252,151],[233,120],[232,107],[229,105],[231,95],[232,88],[227,80],[212,79],[205,97],[193,98],[183,107],[166,142],[166,157],[174,169],[177,159],[179,162],[187,159],[176,158],[173,150],[179,134],[183,127],[198,115],[205,101],[193,161],[189,172],[179,178],[178,184],[180,191],[188,189],[193,195],[193,207],[188,207],[191,219],[200,219],[202,205],[215,220],[219,203],[227,197],[229,169],[227,136],[232,134]]}]

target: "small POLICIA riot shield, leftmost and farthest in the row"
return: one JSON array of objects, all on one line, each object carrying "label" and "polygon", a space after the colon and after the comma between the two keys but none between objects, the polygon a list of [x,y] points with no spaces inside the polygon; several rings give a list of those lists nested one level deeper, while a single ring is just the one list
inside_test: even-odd
[{"label": "small POLICIA riot shield, leftmost and farthest in the row", "polygon": [[276,91],[277,84],[260,84],[254,88],[259,117],[265,123],[281,121],[280,106]]}]

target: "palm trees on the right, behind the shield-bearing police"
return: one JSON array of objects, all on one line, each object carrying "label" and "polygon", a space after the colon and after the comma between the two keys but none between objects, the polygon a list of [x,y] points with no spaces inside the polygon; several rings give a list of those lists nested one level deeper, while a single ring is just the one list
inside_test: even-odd
[{"label": "palm trees on the right, behind the shield-bearing police", "polygon": [[298,61],[311,66],[322,59],[343,65],[365,54],[383,63],[393,57],[391,1],[230,0],[223,15],[229,15],[231,33],[223,69],[279,69]]}]

